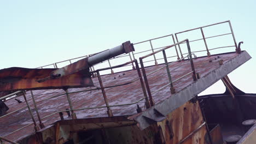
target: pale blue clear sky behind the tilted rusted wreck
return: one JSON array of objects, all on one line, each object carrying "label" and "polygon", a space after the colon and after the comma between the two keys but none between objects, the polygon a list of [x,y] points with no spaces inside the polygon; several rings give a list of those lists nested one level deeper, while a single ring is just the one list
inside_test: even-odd
[{"label": "pale blue clear sky behind the tilted rusted wreck", "polygon": [[[230,20],[253,58],[229,77],[256,93],[255,15],[256,1],[0,1],[0,69],[35,68]],[[205,93],[223,91],[219,83]]]}]

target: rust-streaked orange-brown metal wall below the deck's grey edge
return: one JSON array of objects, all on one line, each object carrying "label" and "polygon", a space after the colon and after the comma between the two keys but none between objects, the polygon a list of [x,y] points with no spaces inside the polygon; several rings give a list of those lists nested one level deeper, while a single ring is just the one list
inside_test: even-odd
[{"label": "rust-streaked orange-brown metal wall below the deck's grey edge", "polygon": [[198,102],[179,106],[158,125],[166,143],[205,143],[206,127]]}]

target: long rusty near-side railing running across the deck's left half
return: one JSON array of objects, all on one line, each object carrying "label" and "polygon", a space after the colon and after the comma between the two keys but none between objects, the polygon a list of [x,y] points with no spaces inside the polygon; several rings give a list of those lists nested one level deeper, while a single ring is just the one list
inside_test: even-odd
[{"label": "long rusty near-side railing running across the deck's left half", "polygon": [[[103,82],[102,82],[102,80],[101,80],[100,71],[108,70],[108,69],[120,68],[120,67],[124,67],[124,66],[127,65],[127,64],[132,64],[132,63],[136,65],[136,70],[137,70],[138,78],[136,78],[136,79],[134,79],[134,80],[131,80],[131,81],[129,81],[129,82],[119,83],[119,84],[117,84],[117,85],[103,86]],[[45,99],[42,99],[42,100],[39,100],[39,101],[34,100],[34,96],[35,96],[35,95],[33,95],[33,92],[31,91],[31,97],[32,97],[31,99],[32,99],[32,101],[33,101],[33,105],[34,105],[34,108],[35,108],[35,111],[36,111],[36,114],[37,114],[37,117],[38,117],[38,121],[39,121],[39,126],[40,126],[40,128],[44,128],[44,124],[42,123],[42,120],[43,120],[43,119],[48,118],[48,117],[51,117],[51,116],[54,116],[56,113],[60,113],[60,112],[68,112],[68,111],[71,111],[71,113],[72,113],[72,114],[71,114],[72,119],[76,119],[76,115],[75,115],[75,112],[74,112],[74,111],[107,108],[108,116],[109,116],[109,117],[112,117],[112,116],[113,116],[113,113],[112,113],[112,110],[110,109],[110,107],[125,106],[125,105],[133,105],[133,104],[139,103],[139,102],[142,101],[142,100],[145,100],[146,108],[147,108],[147,109],[149,108],[149,100],[148,100],[148,97],[147,97],[146,89],[144,88],[144,83],[143,83],[141,71],[139,70],[139,65],[138,65],[137,59],[135,59],[135,60],[133,60],[133,61],[130,61],[130,62],[127,62],[127,63],[124,63],[124,64],[116,65],[116,66],[114,66],[114,67],[103,68],[103,69],[97,69],[97,70],[95,70],[95,71],[92,71],[92,73],[97,73],[98,82],[100,83],[100,87],[96,87],[96,88],[93,88],[93,89],[86,89],[86,90],[84,90],[84,91],[77,91],[77,92],[68,92],[68,89],[64,89],[64,90],[65,90],[65,93],[63,93],[63,94],[54,95],[54,96],[52,96],[52,97],[45,98]],[[131,83],[133,83],[133,82],[135,82],[135,81],[138,81],[138,80],[139,80],[139,82],[140,82],[140,84],[141,84],[142,92],[143,92],[143,95],[144,95],[143,98],[141,98],[141,99],[139,99],[139,100],[137,100],[137,101],[135,101],[135,102],[133,102],[133,103],[120,104],[120,105],[109,105],[108,99],[107,99],[107,95],[106,95],[106,92],[105,92],[105,89],[106,89],[106,88],[113,88],[113,87],[119,87],[119,86],[129,85],[129,84],[131,84]],[[81,92],[88,92],[88,91],[95,91],[95,90],[98,90],[98,89],[101,89],[101,91],[102,91],[103,98],[104,98],[104,101],[105,101],[106,106],[84,107],[84,108],[80,108],[80,109],[73,109],[72,101],[71,101],[71,99],[70,99],[69,94],[72,94],[72,93],[81,93]],[[31,119],[32,119],[33,122],[30,123],[30,124],[25,125],[24,127],[19,128],[19,129],[15,130],[15,131],[13,131],[13,132],[7,134],[7,135],[5,135],[4,137],[7,137],[7,136],[9,136],[9,135],[11,135],[11,134],[14,134],[14,133],[16,133],[17,131],[20,131],[20,130],[22,130],[22,129],[25,129],[25,128],[27,128],[27,127],[33,125],[33,124],[34,124],[34,130],[36,130],[36,131],[39,130],[38,125],[37,125],[37,122],[34,120],[34,116],[33,116],[33,113],[32,113],[32,111],[31,111],[30,105],[28,104],[28,100],[27,100],[27,98],[26,98],[26,93],[25,93],[24,91],[19,91],[19,92],[15,92],[15,93],[12,93],[12,94],[8,94],[8,95],[6,95],[5,97],[0,98],[0,100],[5,99],[5,98],[7,98],[7,97],[11,97],[11,95],[15,95],[15,94],[20,93],[20,92],[22,92],[22,94],[23,94],[23,96],[24,96],[24,99],[25,99],[25,101],[26,101],[26,106],[21,107],[20,109],[15,110],[15,111],[13,111],[13,112],[10,112],[10,113],[8,113],[7,115],[1,116],[0,118],[7,117],[7,116],[11,115],[11,114],[14,113],[14,112],[17,112],[17,111],[20,111],[20,110],[22,110],[22,109],[27,108],[27,109],[28,109],[28,112],[30,113],[30,116],[31,116]],[[51,98],[60,97],[61,95],[66,95],[66,96],[67,96],[68,104],[69,104],[70,110],[56,111],[56,112],[54,112],[54,113],[51,113],[51,114],[48,115],[48,116],[45,116],[45,117],[43,117],[43,118],[40,118],[39,112],[38,112],[38,109],[37,109],[37,103],[41,103],[42,101],[49,100],[49,99],[51,99]],[[1,139],[1,137],[0,137],[0,139]]]}]

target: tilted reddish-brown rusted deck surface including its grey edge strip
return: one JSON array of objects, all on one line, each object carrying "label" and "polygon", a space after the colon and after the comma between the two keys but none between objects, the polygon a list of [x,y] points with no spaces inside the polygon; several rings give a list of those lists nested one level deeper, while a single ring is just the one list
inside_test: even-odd
[{"label": "tilted reddish-brown rusted deck surface including its grey edge strip", "polygon": [[[168,84],[168,75],[166,73],[166,69],[161,69],[156,71],[153,75],[149,75],[147,77],[149,87],[154,100],[155,105],[150,109],[141,113],[141,115],[136,115],[137,104],[145,110],[144,100],[139,101],[144,97],[141,83],[139,81],[135,81],[130,83],[130,85],[124,85],[121,87],[111,87],[106,88],[106,95],[108,97],[109,105],[111,106],[111,110],[114,116],[132,116],[139,123],[139,127],[141,129],[147,128],[150,123],[148,123],[143,116],[147,116],[150,118],[153,116],[152,112],[154,109],[157,109],[161,113],[167,115],[171,111],[177,109],[177,107],[183,105],[185,102],[193,98],[195,95],[199,94],[207,87],[211,86],[214,82],[222,79],[223,76],[229,74],[232,70],[239,67],[241,64],[248,61],[251,57],[248,55],[246,51],[242,51],[241,53],[230,52],[223,53],[219,55],[213,55],[211,57],[200,57],[194,58],[194,65],[196,73],[200,73],[200,79],[197,81],[193,81],[193,76],[191,72],[190,61],[180,61],[174,62],[169,65],[171,71],[171,77],[173,82],[173,87],[176,91],[175,94],[172,94],[170,91],[170,87],[165,87],[161,89],[161,91],[156,92],[159,88]],[[223,64],[220,63],[223,61]],[[162,64],[157,66],[146,67],[145,70],[147,74],[155,71],[162,67]],[[188,74],[184,76],[185,74]],[[184,76],[183,79],[179,79],[179,77]],[[138,74],[136,70],[128,70],[122,71],[120,73],[107,74],[102,75],[101,79],[103,85],[105,87],[117,85],[119,83],[129,82],[133,79],[137,79]],[[92,78],[96,87],[100,87],[97,77]],[[177,80],[177,81],[175,81]],[[88,92],[80,92],[80,93],[72,93],[77,91],[86,91],[90,88],[71,88],[69,89],[69,94],[71,97],[71,101],[73,103],[73,109],[81,109],[84,107],[89,107],[86,110],[75,111],[77,114],[77,118],[92,118],[92,117],[108,117],[106,107],[91,109],[90,107],[101,107],[106,106],[101,89],[96,91],[88,91]],[[36,90],[33,91],[34,98],[37,102],[38,112],[40,113],[40,117],[42,118],[42,122],[44,125],[49,125],[55,121],[60,120],[59,113],[55,113],[52,116],[49,116],[51,113],[57,111],[63,111],[69,108],[67,97],[65,95],[65,91],[62,89],[48,89],[48,90]],[[34,117],[36,118],[36,112],[33,105],[33,101],[31,99],[31,93],[28,91],[26,93],[28,103],[31,105],[31,109]],[[48,100],[44,100],[54,95],[59,97],[51,98]],[[18,103],[14,99],[10,99],[5,101],[5,104],[9,107],[8,113],[21,109],[22,107],[26,107],[26,103],[23,97],[16,97],[21,100],[22,103]],[[121,106],[122,104],[131,104]],[[115,106],[120,105],[120,106]],[[164,107],[165,109],[162,109]],[[7,113],[7,114],[8,114]],[[45,118],[44,118],[45,117]],[[67,116],[67,113],[64,113],[64,118],[68,119],[70,117]],[[153,118],[154,119],[154,118]],[[38,121],[36,119],[36,121]],[[0,135],[5,136],[11,140],[19,139],[21,136],[26,134],[31,134],[33,132],[31,117],[28,113],[27,109],[18,110],[12,115],[6,116],[4,118],[0,118],[1,126],[0,126]],[[13,131],[26,126],[27,124],[32,123],[30,126],[26,128],[16,131]],[[13,133],[13,134],[10,134]],[[10,134],[10,135],[9,135]]]}]

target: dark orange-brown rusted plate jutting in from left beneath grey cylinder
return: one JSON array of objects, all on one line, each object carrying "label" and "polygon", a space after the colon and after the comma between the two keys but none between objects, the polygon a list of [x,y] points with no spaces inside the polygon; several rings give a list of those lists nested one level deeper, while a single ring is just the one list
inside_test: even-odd
[{"label": "dark orange-brown rusted plate jutting in from left beneath grey cylinder", "polygon": [[7,68],[0,70],[0,91],[17,91],[29,89],[77,88],[94,86],[89,70],[51,79],[45,82],[37,80],[47,77],[55,69]]}]

